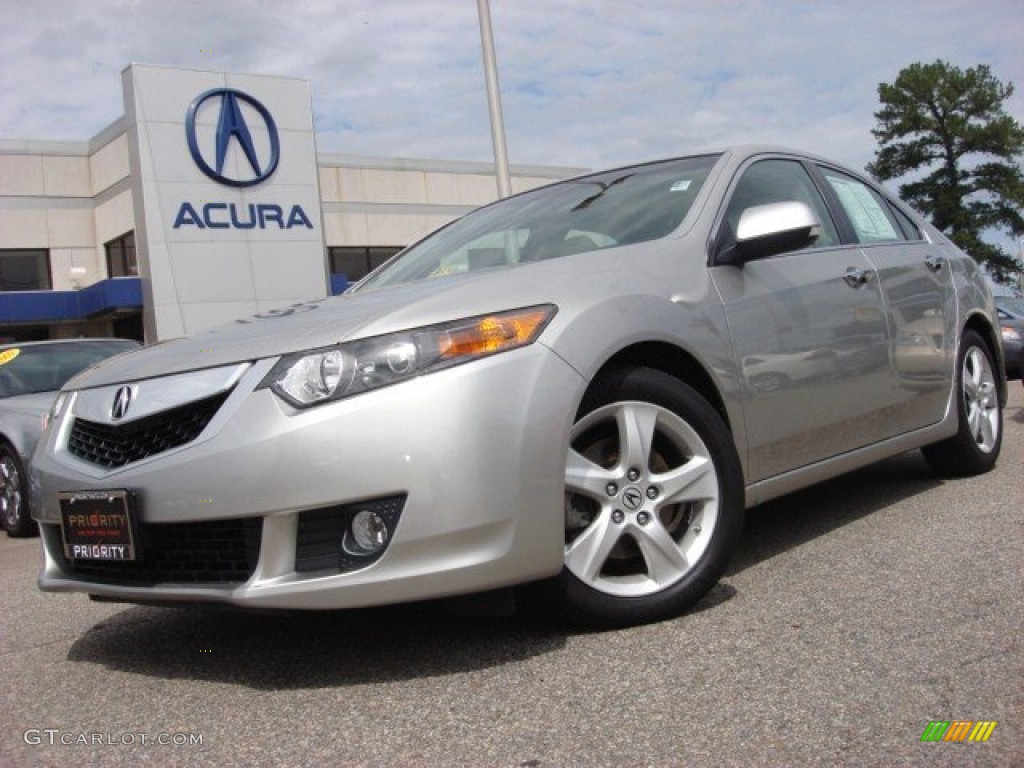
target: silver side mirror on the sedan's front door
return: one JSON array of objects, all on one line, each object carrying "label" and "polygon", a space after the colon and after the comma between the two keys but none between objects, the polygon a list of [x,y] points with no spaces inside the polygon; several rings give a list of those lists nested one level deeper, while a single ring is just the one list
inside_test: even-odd
[{"label": "silver side mirror on the sedan's front door", "polygon": [[718,263],[741,265],[754,259],[806,248],[821,236],[821,222],[806,203],[769,203],[748,208],[736,225],[736,242]]}]

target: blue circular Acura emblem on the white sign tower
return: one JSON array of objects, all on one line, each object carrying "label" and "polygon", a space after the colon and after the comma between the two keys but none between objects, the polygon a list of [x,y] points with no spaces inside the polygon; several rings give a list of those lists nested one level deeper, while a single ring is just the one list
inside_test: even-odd
[{"label": "blue circular Acura emblem on the white sign tower", "polygon": [[[211,165],[208,157],[200,148],[199,137],[196,133],[196,116],[210,99],[217,99],[220,102],[220,117],[217,120],[216,147]],[[246,119],[242,114],[240,102],[245,102],[262,118],[266,127],[267,135],[270,139],[270,157],[261,158],[256,152],[252,133],[246,124]],[[265,181],[278,168],[278,160],[281,156],[281,141],[278,137],[278,126],[273,118],[263,104],[255,98],[233,88],[214,88],[196,97],[196,100],[188,105],[185,115],[185,134],[188,137],[188,151],[191,153],[196,165],[207,176],[214,181],[219,181],[228,186],[252,186],[261,181]],[[251,175],[240,177],[228,176],[224,173],[224,161],[227,158],[227,151],[232,141],[238,141],[239,148],[248,161],[252,171]],[[244,163],[242,164],[245,165]]]}]

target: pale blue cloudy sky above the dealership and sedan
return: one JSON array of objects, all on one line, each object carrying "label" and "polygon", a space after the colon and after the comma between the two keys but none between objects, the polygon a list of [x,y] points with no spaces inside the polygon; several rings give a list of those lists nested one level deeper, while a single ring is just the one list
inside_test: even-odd
[{"label": "pale blue cloudy sky above the dealership and sedan", "polygon": [[[988,65],[1024,122],[1024,0],[490,0],[509,161],[780,143],[857,170],[878,85]],[[317,148],[492,162],[476,0],[0,0],[0,139],[84,141],[136,61],[307,79]]]}]

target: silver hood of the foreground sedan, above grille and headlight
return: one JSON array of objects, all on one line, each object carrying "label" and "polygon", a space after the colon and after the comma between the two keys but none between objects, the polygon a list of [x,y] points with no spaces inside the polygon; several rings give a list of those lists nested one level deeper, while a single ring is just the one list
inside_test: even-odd
[{"label": "silver hood of the foreground sedan, above grille and headlight", "polygon": [[[567,262],[569,258],[558,261]],[[560,281],[546,279],[543,273],[567,267],[567,263],[542,262],[303,302],[104,360],[72,379],[65,389],[109,386],[252,361],[553,301],[556,292],[549,289]],[[539,286],[545,287],[543,291]],[[546,298],[539,298],[542,294]]]}]

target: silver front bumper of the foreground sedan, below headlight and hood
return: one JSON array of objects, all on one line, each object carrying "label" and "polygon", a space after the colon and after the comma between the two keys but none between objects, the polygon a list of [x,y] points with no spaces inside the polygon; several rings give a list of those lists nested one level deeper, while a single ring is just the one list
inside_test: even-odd
[{"label": "silver front bumper of the foreground sedan, below headlight and hood", "polygon": [[[534,344],[304,411],[256,388],[272,364],[242,376],[195,440],[116,469],[68,452],[72,401],[33,460],[40,588],[327,609],[496,589],[561,568],[565,450],[584,381],[549,349]],[[139,583],[121,579],[117,563],[85,574],[65,556],[57,498],[110,489],[135,494],[151,542],[186,528],[188,542],[216,543],[238,528],[232,541],[251,567],[218,583],[206,571],[176,579],[173,568]],[[310,569],[310,520],[330,528],[332,516],[379,503],[398,509],[379,559]],[[332,534],[321,534],[323,548]]]}]

